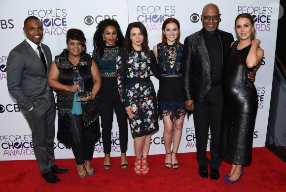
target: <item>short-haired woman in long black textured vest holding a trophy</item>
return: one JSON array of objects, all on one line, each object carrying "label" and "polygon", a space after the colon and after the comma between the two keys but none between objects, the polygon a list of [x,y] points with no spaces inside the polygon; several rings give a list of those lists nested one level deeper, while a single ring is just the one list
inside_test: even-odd
[{"label": "short-haired woman in long black textured vest holding a trophy", "polygon": [[[99,105],[95,97],[100,89],[100,71],[91,56],[86,53],[85,37],[81,30],[71,28],[67,32],[67,49],[55,57],[51,64],[48,83],[57,90],[58,134],[57,138],[67,148],[72,146],[78,175],[92,175],[92,159],[95,142],[100,138]],[[76,68],[84,82],[89,97],[76,100],[79,84],[73,82]]]}]

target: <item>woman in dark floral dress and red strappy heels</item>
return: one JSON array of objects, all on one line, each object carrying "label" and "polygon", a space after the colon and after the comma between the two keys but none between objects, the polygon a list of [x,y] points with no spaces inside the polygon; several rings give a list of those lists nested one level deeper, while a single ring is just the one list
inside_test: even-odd
[{"label": "woman in dark floral dress and red strappy heels", "polygon": [[154,74],[159,79],[160,73],[155,55],[149,51],[147,30],[142,23],[128,25],[124,45],[116,66],[118,90],[135,138],[134,171],[146,174],[151,133],[159,129],[156,92],[149,76]]}]

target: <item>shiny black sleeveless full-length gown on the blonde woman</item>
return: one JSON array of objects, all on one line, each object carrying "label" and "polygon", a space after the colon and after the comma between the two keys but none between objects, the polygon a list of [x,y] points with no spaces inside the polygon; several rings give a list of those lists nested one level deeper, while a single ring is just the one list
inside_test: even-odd
[{"label": "shiny black sleeveless full-length gown on the blonde woman", "polygon": [[247,78],[246,58],[251,44],[237,50],[236,41],[223,65],[223,96],[220,156],[234,164],[251,162],[252,141],[258,98],[253,82]]}]

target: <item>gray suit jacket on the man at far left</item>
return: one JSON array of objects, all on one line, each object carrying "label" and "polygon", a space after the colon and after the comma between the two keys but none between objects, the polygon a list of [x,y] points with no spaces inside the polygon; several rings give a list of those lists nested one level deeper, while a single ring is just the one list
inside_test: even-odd
[{"label": "gray suit jacket on the man at far left", "polygon": [[[47,60],[47,71],[52,63],[48,46],[41,44]],[[22,110],[45,110],[50,97],[54,101],[53,89],[47,82],[47,72],[35,50],[24,40],[7,58],[8,90]]]}]

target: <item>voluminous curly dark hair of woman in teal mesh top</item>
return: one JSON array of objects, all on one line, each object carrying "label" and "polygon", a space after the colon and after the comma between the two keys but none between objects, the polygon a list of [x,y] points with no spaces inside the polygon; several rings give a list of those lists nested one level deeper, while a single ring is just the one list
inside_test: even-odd
[{"label": "voluminous curly dark hair of woman in teal mesh top", "polygon": [[105,19],[99,22],[98,26],[96,27],[96,31],[93,35],[93,46],[96,53],[99,53],[99,58],[101,59],[104,54],[104,46],[105,42],[103,41],[102,34],[104,33],[104,30],[107,26],[113,26],[116,28],[117,38],[118,40],[115,42],[115,45],[119,46],[123,49],[123,41],[124,36],[122,34],[122,31],[120,29],[120,26],[117,21],[113,19]]}]

